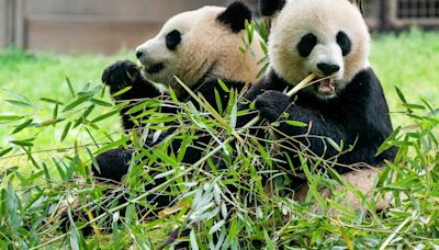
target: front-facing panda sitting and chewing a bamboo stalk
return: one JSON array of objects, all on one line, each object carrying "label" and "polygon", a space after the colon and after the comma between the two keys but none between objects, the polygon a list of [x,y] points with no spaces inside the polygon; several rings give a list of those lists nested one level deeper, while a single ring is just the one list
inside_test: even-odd
[{"label": "front-facing panda sitting and chewing a bamboo stalk", "polygon": [[[323,158],[318,168],[331,168],[364,194],[372,192],[380,169],[369,167],[393,160],[396,149],[376,156],[393,128],[382,86],[368,60],[370,35],[359,8],[348,0],[261,0],[260,8],[273,16],[270,69],[245,99],[255,103],[263,121],[275,122],[274,137],[281,144],[278,166],[289,172],[294,167],[289,175],[295,198],[303,201],[308,188],[299,168],[303,161],[299,151],[308,156],[309,166]],[[315,84],[293,98],[285,94],[311,73],[317,76]],[[248,103],[240,109],[249,109]],[[254,116],[240,116],[238,125]],[[345,146],[340,154],[325,138],[351,148]],[[347,194],[345,202],[352,208],[361,204],[353,194]]]}]

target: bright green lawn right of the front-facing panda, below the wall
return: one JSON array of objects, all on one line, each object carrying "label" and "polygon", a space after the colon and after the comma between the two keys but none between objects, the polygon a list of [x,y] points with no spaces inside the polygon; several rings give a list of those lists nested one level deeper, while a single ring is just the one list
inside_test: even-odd
[{"label": "bright green lawn right of the front-facing panda, below the wall", "polygon": [[[390,110],[399,111],[394,87],[398,87],[409,102],[421,99],[439,104],[439,32],[412,30],[399,35],[375,35],[370,61],[381,80]],[[393,115],[394,125],[404,117]]]}]

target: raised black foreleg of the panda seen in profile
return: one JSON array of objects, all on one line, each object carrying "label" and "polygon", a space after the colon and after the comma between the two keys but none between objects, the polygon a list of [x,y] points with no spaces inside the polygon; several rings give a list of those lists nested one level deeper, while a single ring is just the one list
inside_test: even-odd
[{"label": "raised black foreleg of the panda seen in profile", "polygon": [[[110,88],[110,93],[115,101],[131,102],[121,110],[122,123],[125,130],[134,128],[134,123],[131,121],[131,115],[126,112],[136,103],[144,99],[157,98],[161,92],[148,80],[146,80],[138,66],[130,60],[116,61],[105,68],[102,73],[102,82]],[[114,96],[119,91],[131,87],[126,92]],[[132,114],[136,115],[136,114]]]}]

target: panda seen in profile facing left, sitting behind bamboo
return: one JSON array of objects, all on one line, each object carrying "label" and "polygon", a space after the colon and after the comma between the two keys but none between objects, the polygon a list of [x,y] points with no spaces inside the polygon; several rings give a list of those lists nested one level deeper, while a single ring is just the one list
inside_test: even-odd
[{"label": "panda seen in profile facing left, sitting behind bamboo", "polygon": [[[260,47],[260,36],[255,33],[250,49],[243,53],[243,37],[247,36],[245,21],[251,20],[251,11],[241,2],[233,2],[227,8],[203,7],[183,12],[169,19],[158,35],[136,49],[136,56],[143,69],[131,61],[117,61],[109,66],[102,81],[110,93],[131,89],[115,96],[116,101],[150,98],[168,98],[167,91],[160,91],[153,82],[165,90],[172,89],[179,101],[196,101],[178,83],[175,76],[205,100],[217,107],[215,91],[221,96],[222,106],[229,101],[229,92],[218,83],[222,79],[228,89],[241,91],[247,83],[256,82],[261,66],[258,61],[264,54]],[[133,101],[134,102],[134,101]],[[126,114],[132,105],[121,110],[124,129],[135,128],[131,115]],[[178,110],[161,106],[161,112],[176,113]],[[134,114],[135,116],[136,114]],[[165,136],[169,134],[162,133]],[[198,141],[205,143],[205,141]],[[178,141],[173,150],[178,150]],[[201,150],[191,147],[183,162],[193,163],[201,158]],[[99,170],[93,169],[100,179],[121,181],[126,174],[133,152],[126,149],[113,149],[97,157]]]}]

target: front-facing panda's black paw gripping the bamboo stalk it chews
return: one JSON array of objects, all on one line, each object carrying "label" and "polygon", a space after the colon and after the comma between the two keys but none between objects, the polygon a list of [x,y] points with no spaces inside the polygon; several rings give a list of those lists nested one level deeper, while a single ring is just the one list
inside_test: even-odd
[{"label": "front-facing panda's black paw gripping the bamboo stalk it chews", "polygon": [[277,90],[270,90],[255,100],[256,107],[259,110],[259,115],[270,123],[275,122],[279,116],[288,109],[291,99]]}]

